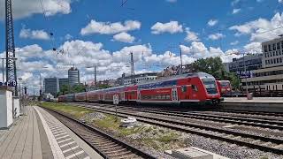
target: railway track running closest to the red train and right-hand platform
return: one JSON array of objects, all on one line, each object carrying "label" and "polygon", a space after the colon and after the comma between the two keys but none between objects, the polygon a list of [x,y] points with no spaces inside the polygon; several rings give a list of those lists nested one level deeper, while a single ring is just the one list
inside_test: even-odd
[{"label": "railway track running closest to the red train and right-hand platform", "polygon": [[[97,105],[88,103],[90,105]],[[111,104],[102,104],[103,107],[108,108],[115,108],[114,105]],[[262,128],[269,128],[275,130],[283,130],[283,121],[274,121],[268,119],[261,119],[261,118],[252,118],[252,117],[229,117],[225,115],[215,115],[215,114],[204,114],[200,112],[179,112],[179,111],[160,111],[160,110],[151,110],[145,108],[135,108],[135,107],[127,107],[127,106],[118,106],[119,110],[134,110],[139,112],[147,112],[147,113],[154,113],[158,115],[166,115],[171,117],[186,117],[186,118],[195,118],[201,120],[208,120],[214,122],[221,122],[221,123],[230,123],[236,125],[248,125],[248,126],[256,126]]]}]

